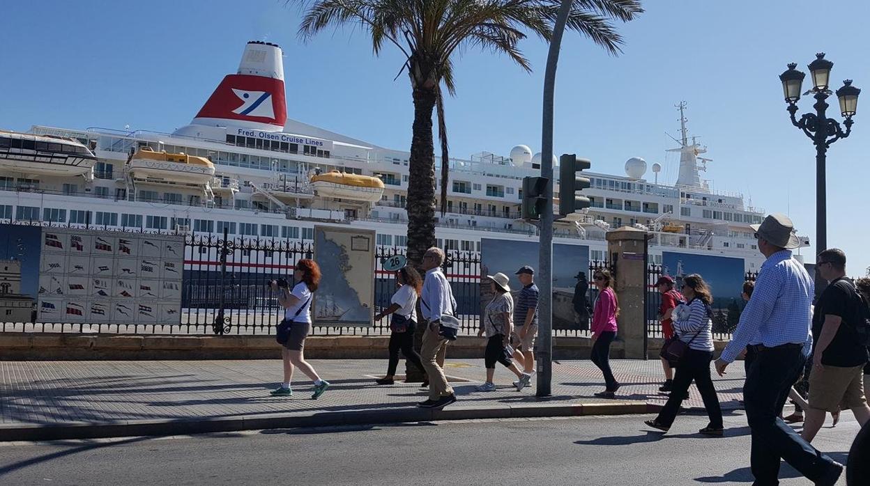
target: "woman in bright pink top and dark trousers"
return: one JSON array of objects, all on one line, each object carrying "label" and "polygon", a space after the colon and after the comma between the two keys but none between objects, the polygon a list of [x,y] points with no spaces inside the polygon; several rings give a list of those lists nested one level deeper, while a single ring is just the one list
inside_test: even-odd
[{"label": "woman in bright pink top and dark trousers", "polygon": [[599,296],[595,299],[595,309],[592,311],[592,363],[604,373],[606,388],[595,396],[613,398],[619,383],[613,377],[610,369],[610,343],[616,338],[616,317],[619,316],[619,302],[613,291],[613,280],[610,270],[596,270],[595,286]]}]

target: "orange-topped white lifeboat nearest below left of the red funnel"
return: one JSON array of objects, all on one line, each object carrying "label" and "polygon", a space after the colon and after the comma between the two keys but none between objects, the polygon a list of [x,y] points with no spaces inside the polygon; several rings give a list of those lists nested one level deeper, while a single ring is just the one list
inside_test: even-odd
[{"label": "orange-topped white lifeboat nearest below left of the red funnel", "polygon": [[205,185],[215,175],[215,166],[207,158],[155,152],[150,147],[137,150],[127,164],[134,178],[154,183]]}]

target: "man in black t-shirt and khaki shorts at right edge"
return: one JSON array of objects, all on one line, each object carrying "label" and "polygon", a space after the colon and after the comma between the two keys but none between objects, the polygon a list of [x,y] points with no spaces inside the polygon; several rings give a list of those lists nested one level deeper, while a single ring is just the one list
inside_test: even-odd
[{"label": "man in black t-shirt and khaki shorts at right edge", "polygon": [[870,419],[864,397],[867,348],[860,344],[864,301],[846,278],[846,254],[832,248],[816,257],[816,270],[827,280],[813,312],[813,369],[810,371],[809,409],[801,432],[806,442],[825,423],[825,412],[852,409],[861,427]]}]

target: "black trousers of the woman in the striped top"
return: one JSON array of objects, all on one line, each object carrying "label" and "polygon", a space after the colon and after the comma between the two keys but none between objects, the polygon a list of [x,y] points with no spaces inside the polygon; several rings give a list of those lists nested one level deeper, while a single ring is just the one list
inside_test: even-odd
[{"label": "black trousers of the woman in the striped top", "polygon": [[686,350],[686,354],[677,363],[677,373],[673,377],[671,397],[667,399],[665,408],[661,409],[656,421],[670,427],[683,403],[683,396],[694,380],[695,386],[704,399],[704,408],[710,417],[710,427],[722,428],[722,408],[719,406],[719,396],[710,377],[710,362],[713,361],[713,351]]}]

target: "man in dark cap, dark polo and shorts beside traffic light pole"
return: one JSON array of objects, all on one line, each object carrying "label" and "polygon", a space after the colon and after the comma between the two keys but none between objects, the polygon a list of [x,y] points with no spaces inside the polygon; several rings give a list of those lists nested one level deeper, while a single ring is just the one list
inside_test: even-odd
[{"label": "man in dark cap, dark polo and shorts beside traffic light pole", "polygon": [[523,367],[523,376],[513,383],[517,388],[529,386],[532,373],[535,372],[535,356],[532,350],[535,346],[535,336],[538,336],[538,286],[535,285],[535,270],[523,265],[517,270],[517,278],[523,289],[519,290],[519,299],[513,309],[514,332],[519,339],[513,358]]}]

